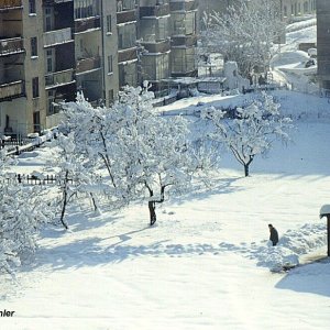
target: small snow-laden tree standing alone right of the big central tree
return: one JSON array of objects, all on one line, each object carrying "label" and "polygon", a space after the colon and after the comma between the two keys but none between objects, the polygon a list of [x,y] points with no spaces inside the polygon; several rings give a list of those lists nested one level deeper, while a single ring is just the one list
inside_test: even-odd
[{"label": "small snow-laden tree standing alone right of the big central tree", "polygon": [[224,119],[226,111],[215,108],[205,110],[201,117],[213,124],[210,139],[224,143],[249,176],[249,167],[256,155],[271,150],[276,139],[289,140],[292,120],[283,117],[279,108],[272,96],[263,92],[245,108],[237,108],[234,119]]}]

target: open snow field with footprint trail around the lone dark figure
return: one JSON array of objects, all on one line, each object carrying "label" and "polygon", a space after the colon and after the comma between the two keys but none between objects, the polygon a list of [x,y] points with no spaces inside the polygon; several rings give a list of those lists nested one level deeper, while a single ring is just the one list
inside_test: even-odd
[{"label": "open snow field with footprint trail around the lone dark figure", "polygon": [[[296,92],[282,101],[330,111]],[[0,329],[327,329],[330,263],[305,263],[327,253],[319,210],[330,204],[330,121],[295,124],[293,141],[255,158],[248,178],[224,153],[212,186],[172,197],[153,228],[146,204],[101,215],[72,208],[69,231],[47,229],[18,283],[1,278],[1,309],[15,316]],[[51,156],[47,147],[23,154],[18,170]],[[271,272],[286,256],[301,264]]]}]

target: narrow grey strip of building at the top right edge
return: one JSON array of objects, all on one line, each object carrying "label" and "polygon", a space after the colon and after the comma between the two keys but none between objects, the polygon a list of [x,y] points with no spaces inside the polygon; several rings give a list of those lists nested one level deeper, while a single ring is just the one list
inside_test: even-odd
[{"label": "narrow grey strip of building at the top right edge", "polygon": [[318,77],[330,94],[330,1],[317,1]]}]

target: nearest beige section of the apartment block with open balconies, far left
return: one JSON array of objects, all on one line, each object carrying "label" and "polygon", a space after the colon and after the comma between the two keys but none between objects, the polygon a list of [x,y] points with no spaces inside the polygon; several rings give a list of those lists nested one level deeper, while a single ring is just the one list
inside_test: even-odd
[{"label": "nearest beige section of the apartment block with open balconies, far left", "polygon": [[[116,1],[0,0],[0,134],[52,125],[56,103],[117,94]],[[112,32],[113,31],[113,32]]]}]

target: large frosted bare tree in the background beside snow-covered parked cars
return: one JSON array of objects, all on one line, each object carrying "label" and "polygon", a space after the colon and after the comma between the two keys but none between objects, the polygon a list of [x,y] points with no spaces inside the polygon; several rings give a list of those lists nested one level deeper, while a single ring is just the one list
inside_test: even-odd
[{"label": "large frosted bare tree in the background beside snow-covered parked cars", "polygon": [[244,77],[257,67],[267,70],[277,51],[274,42],[285,29],[278,4],[273,0],[238,0],[227,12],[205,15],[204,47],[221,53],[224,61],[237,62]]}]

